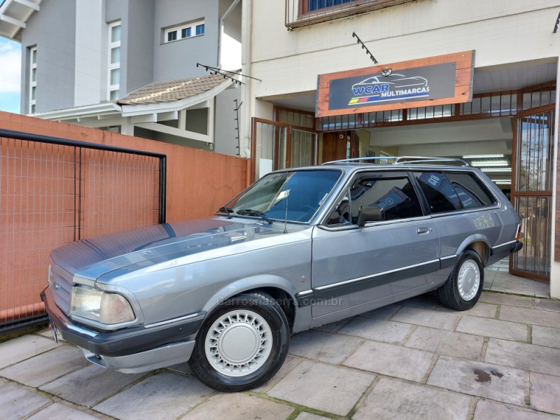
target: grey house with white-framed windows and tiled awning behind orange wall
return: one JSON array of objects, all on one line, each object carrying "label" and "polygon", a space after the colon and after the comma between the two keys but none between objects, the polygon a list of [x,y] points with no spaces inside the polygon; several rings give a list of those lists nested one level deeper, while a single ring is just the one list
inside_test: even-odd
[{"label": "grey house with white-framed windows and tiled awning behind orange wall", "polygon": [[0,35],[21,113],[239,153],[240,0],[4,0]]}]

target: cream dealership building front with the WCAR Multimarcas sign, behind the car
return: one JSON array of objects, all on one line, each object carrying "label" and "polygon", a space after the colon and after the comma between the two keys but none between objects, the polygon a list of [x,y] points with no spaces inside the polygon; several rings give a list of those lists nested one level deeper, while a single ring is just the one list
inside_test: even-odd
[{"label": "cream dealership building front with the WCAR Multimarcas sign, behind the car", "polygon": [[559,14],[558,0],[244,1],[253,177],[344,158],[461,158],[524,216],[510,271],[560,297]]}]

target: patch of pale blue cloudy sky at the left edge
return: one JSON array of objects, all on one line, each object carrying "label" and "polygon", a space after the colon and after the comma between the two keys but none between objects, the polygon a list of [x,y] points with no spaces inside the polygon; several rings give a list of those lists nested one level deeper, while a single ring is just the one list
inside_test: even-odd
[{"label": "patch of pale blue cloudy sky at the left edge", "polygon": [[0,111],[20,113],[21,44],[0,37]]}]

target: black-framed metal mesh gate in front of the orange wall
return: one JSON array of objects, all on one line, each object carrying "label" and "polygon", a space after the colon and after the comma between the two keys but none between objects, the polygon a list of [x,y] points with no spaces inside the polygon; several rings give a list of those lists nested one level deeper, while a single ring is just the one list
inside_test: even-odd
[{"label": "black-framed metal mesh gate in front of the orange wall", "polygon": [[0,130],[0,333],[43,322],[48,255],[165,222],[166,157]]}]

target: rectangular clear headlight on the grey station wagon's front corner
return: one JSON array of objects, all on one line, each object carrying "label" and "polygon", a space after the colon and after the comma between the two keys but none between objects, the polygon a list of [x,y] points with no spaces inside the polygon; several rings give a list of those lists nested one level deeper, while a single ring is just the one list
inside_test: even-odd
[{"label": "rectangular clear headlight on the grey station wagon's front corner", "polygon": [[134,320],[134,311],[123,295],[87,286],[72,288],[70,314],[109,325]]}]

